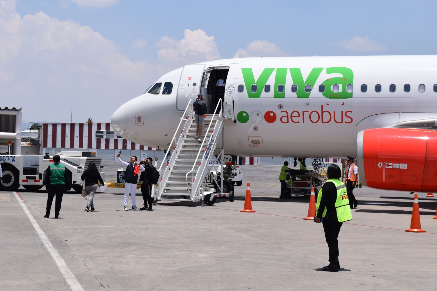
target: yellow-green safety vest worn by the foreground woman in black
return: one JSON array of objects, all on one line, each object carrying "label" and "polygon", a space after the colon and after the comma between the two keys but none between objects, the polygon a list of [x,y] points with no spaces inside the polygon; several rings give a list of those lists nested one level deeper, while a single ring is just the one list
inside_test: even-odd
[{"label": "yellow-green safety vest worn by the foreground woman in black", "polygon": [[[349,199],[346,193],[346,185],[338,179],[329,179],[326,182],[333,182],[335,187],[337,188],[337,199],[335,201],[335,210],[337,212],[337,219],[339,223],[344,221],[352,220],[352,212],[350,212]],[[325,182],[325,183],[326,183]],[[322,188],[320,188],[319,193],[317,194],[317,204],[316,204],[316,216],[317,211],[319,210],[320,201],[322,200]],[[326,216],[326,207],[323,209],[322,217]]]}]

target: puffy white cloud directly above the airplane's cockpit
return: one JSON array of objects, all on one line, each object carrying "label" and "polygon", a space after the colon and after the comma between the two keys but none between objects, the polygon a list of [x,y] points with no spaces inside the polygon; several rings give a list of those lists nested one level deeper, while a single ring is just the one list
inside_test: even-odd
[{"label": "puffy white cloud directly above the airplane's cockpit", "polygon": [[214,37],[206,35],[201,29],[185,29],[181,40],[164,36],[156,46],[161,48],[158,51],[160,61],[167,64],[182,66],[220,58]]}]

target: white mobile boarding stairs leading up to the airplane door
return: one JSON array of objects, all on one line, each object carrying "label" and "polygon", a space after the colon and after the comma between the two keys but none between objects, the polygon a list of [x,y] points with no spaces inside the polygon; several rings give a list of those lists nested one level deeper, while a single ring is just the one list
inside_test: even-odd
[{"label": "white mobile boarding stairs leading up to the airplane door", "polygon": [[218,113],[206,115],[201,143],[195,138],[197,125],[192,109],[193,103],[190,100],[167,150],[173,150],[170,158],[164,160],[159,169],[161,172],[165,167],[158,185],[157,200],[203,202],[206,195],[215,192],[214,188],[208,187],[205,177],[212,169],[210,161],[216,159],[214,153],[217,145],[223,145],[226,118],[223,116],[222,102],[220,100],[214,111]]}]

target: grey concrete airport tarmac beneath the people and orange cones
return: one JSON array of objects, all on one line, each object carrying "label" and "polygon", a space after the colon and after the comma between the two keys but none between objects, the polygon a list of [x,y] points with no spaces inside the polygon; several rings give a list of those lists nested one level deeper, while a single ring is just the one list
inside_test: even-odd
[{"label": "grey concrete airport tarmac beneath the people and orange cones", "polygon": [[[118,164],[105,165],[106,181],[111,167]],[[236,200],[205,207],[163,202],[154,211],[123,211],[123,188],[112,188],[95,196],[95,212],[84,211],[80,194],[64,194],[60,219],[45,219],[45,192],[0,192],[0,289],[434,289],[436,198],[419,194],[427,232],[407,233],[413,195],[355,189],[360,203],[339,236],[342,268],[323,272],[323,227],[302,219],[309,199],[277,198],[281,166],[241,167]],[[247,182],[255,213],[239,211]],[[136,199],[140,207],[139,189]],[[54,202],[52,217],[53,209]]]}]

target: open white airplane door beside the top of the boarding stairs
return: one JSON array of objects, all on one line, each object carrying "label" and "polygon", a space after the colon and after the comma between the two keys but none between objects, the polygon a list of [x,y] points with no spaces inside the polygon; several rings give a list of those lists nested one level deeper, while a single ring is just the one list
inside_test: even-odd
[{"label": "open white airplane door beside the top of the boarding stairs", "polygon": [[205,65],[187,65],[180,75],[177,88],[177,110],[185,110],[188,101],[197,98]]}]

